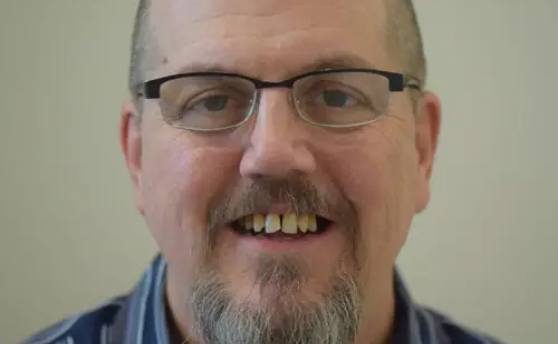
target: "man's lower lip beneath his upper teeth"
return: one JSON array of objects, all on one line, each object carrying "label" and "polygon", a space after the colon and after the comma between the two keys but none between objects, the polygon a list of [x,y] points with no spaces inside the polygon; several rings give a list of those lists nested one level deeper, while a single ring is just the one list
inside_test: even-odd
[{"label": "man's lower lip beneath his upper teeth", "polygon": [[232,233],[237,240],[250,246],[252,249],[259,249],[265,251],[293,251],[305,250],[311,246],[321,245],[327,241],[332,240],[336,226],[330,223],[329,226],[321,233],[307,234],[300,236],[276,236],[266,237],[264,235],[243,235],[235,231],[232,227],[228,226],[227,231]]}]

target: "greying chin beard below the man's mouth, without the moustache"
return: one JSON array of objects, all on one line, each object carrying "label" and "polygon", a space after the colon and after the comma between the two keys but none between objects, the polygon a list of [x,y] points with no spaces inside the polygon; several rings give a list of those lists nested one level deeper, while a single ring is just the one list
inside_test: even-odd
[{"label": "greying chin beard below the man's mouth, without the moustache", "polygon": [[349,344],[359,322],[354,278],[338,272],[321,300],[301,297],[304,271],[296,258],[261,256],[258,305],[235,302],[217,273],[194,285],[190,305],[205,344]]}]

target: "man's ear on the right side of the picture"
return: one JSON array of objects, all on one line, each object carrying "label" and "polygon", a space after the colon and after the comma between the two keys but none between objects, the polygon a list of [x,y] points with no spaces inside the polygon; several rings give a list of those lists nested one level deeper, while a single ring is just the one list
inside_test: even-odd
[{"label": "man's ear on the right side of the picture", "polygon": [[424,92],[417,103],[415,147],[418,157],[419,189],[415,211],[423,211],[430,200],[430,177],[440,133],[441,104],[431,92]]}]

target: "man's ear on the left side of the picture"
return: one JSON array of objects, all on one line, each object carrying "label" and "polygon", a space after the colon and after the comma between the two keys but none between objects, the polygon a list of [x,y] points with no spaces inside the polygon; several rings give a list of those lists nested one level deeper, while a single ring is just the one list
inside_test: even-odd
[{"label": "man's ear on the left side of the picture", "polygon": [[120,117],[120,148],[132,179],[136,208],[143,215],[141,169],[141,118],[131,101],[122,105]]}]

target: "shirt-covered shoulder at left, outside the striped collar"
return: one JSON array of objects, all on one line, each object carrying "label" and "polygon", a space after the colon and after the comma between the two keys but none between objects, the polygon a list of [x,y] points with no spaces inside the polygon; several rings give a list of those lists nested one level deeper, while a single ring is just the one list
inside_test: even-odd
[{"label": "shirt-covered shoulder at left, outside the striped collar", "polygon": [[86,312],[68,317],[21,344],[104,343],[127,297],[117,297]]}]

